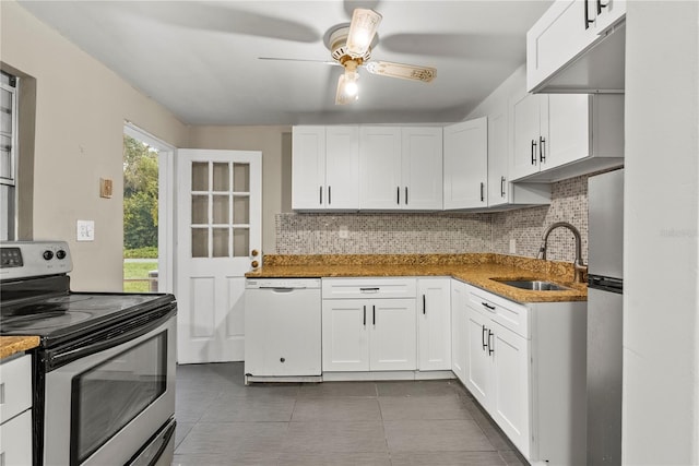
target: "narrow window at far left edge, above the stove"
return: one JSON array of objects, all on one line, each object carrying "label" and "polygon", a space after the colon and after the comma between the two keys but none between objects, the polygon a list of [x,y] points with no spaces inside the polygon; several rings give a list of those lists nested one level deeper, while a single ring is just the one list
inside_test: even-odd
[{"label": "narrow window at far left edge, above the stove", "polygon": [[15,239],[17,81],[0,72],[0,240]]}]

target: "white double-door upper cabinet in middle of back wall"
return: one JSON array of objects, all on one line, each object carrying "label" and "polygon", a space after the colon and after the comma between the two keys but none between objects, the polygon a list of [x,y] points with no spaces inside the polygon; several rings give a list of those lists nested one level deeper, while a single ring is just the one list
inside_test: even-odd
[{"label": "white double-door upper cabinet in middle of back wall", "polygon": [[439,211],[441,128],[362,127],[359,207]]}]

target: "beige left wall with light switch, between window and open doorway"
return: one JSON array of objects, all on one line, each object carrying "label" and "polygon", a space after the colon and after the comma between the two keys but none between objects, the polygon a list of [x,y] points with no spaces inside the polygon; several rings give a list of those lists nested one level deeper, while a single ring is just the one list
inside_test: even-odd
[{"label": "beige left wall with light switch, between window and open doorway", "polygon": [[[36,80],[33,239],[69,240],[73,289],[121,290],[125,120],[175,146],[187,127],[16,2],[0,9],[3,68]],[[95,220],[94,242],[74,240],[78,219]]]}]

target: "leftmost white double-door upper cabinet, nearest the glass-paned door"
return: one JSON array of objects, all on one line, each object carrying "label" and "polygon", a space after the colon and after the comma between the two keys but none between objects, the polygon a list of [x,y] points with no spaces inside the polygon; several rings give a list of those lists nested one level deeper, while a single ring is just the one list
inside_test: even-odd
[{"label": "leftmost white double-door upper cabinet, nearest the glass-paned door", "polygon": [[358,127],[294,127],[292,135],[292,207],[359,207]]}]

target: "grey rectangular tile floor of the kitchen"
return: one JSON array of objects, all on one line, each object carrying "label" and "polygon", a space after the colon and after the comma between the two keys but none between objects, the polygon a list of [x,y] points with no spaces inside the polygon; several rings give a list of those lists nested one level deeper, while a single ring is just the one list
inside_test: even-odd
[{"label": "grey rectangular tile floor of the kitchen", "polygon": [[244,385],[177,368],[174,465],[523,465],[455,380]]}]

